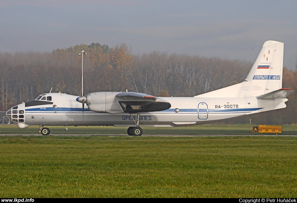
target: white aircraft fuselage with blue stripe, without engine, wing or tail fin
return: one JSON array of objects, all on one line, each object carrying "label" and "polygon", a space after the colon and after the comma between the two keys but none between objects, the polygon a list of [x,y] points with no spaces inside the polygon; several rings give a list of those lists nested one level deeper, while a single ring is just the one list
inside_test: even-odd
[{"label": "white aircraft fuselage with blue stripe, without engine, wing or tail fin", "polygon": [[[29,125],[47,126],[135,126],[136,114],[109,114],[91,112],[77,102],[78,96],[48,93],[52,104],[18,105],[17,113],[24,110],[24,118],[15,119],[20,128]],[[171,104],[170,109],[140,113],[140,126],[194,126],[267,110],[284,108],[287,99],[260,100],[246,98],[205,98],[205,97],[162,97]],[[28,105],[28,104],[27,104]],[[56,105],[56,106],[55,106]],[[54,108],[55,107],[55,108]],[[15,111],[16,112],[16,111]],[[14,114],[12,114],[14,115]],[[16,116],[15,116],[16,117]],[[133,118],[132,118],[133,117]],[[21,122],[20,122],[21,121]]]}]

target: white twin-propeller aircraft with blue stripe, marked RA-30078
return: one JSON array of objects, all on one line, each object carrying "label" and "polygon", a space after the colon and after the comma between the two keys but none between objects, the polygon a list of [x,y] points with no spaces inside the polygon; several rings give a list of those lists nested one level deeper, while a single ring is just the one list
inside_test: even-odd
[{"label": "white twin-propeller aircraft with blue stripe, marked RA-30078", "polygon": [[[242,115],[285,108],[293,91],[282,88],[284,44],[267,41],[244,82],[194,97],[155,97],[136,92],[94,92],[85,96],[41,94],[12,107],[6,115],[18,127],[127,126],[140,136],[140,126],[195,126]],[[231,73],[230,73],[231,74]],[[84,104],[88,109],[84,109]]]}]

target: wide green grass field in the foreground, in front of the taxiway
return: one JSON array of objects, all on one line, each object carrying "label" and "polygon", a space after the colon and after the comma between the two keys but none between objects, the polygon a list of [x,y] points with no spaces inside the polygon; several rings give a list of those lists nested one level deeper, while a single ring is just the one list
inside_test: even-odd
[{"label": "wide green grass field in the foreground, in front of the taxiway", "polygon": [[0,136],[0,195],[297,197],[296,137]]}]

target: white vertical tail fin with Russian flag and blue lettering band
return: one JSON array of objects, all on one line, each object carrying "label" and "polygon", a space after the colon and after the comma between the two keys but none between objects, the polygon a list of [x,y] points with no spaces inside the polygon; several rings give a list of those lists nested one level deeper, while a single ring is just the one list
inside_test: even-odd
[{"label": "white vertical tail fin with Russian flag and blue lettering band", "polygon": [[195,97],[260,96],[282,88],[284,43],[267,41],[244,82]]}]

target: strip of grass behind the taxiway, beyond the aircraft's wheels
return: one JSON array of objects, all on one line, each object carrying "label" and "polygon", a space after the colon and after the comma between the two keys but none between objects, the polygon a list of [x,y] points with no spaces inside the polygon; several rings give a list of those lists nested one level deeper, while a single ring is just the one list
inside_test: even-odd
[{"label": "strip of grass behind the taxiway, beyond the aircraft's wheels", "polygon": [[[252,124],[206,124],[190,127],[143,127],[143,134],[237,134],[249,135],[252,133]],[[127,127],[113,126],[45,126],[50,129],[50,134],[127,134]],[[24,129],[18,128],[17,125],[0,125],[0,134],[37,134],[39,126],[29,126]],[[283,135],[297,135],[297,126],[283,125]],[[266,133],[263,135],[275,135]]]}]

